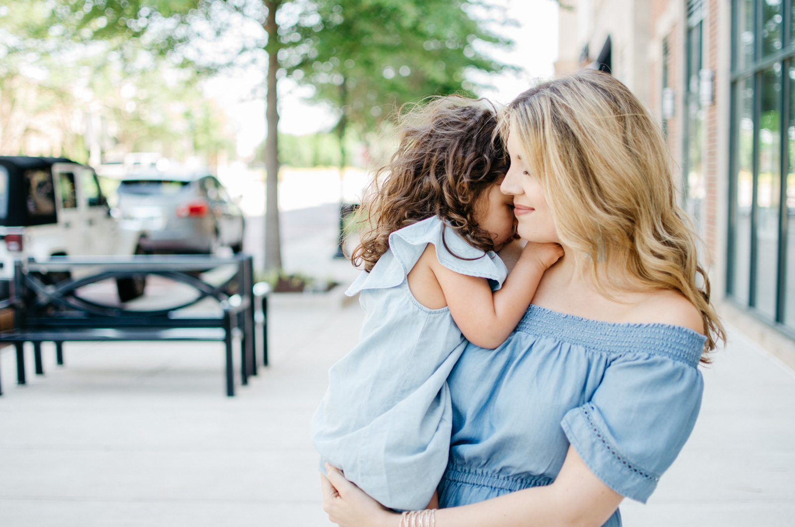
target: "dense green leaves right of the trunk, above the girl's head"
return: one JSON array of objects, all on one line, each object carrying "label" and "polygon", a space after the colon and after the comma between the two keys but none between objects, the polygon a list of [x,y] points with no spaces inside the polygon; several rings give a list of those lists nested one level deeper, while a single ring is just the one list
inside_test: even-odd
[{"label": "dense green leaves right of the trunk, above the girl's head", "polygon": [[372,131],[411,100],[474,95],[475,87],[464,78],[468,68],[504,68],[478,49],[484,42],[508,42],[481,29],[456,0],[315,3],[316,16],[308,20],[315,24],[296,25],[300,38],[289,33],[289,41],[301,44],[285,49],[280,58],[294,79],[316,88],[315,100],[339,109],[339,127],[350,123],[358,131]]}]

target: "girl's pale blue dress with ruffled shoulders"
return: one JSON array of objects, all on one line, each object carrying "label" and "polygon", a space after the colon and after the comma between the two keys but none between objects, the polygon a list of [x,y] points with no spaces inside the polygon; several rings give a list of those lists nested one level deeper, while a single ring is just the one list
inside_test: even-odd
[{"label": "girl's pale blue dress with ruffled shoulders", "polygon": [[[390,235],[390,249],[347,295],[366,311],[359,345],[328,372],[328,391],[312,417],[323,459],[384,506],[424,509],[445,466],[452,426],[448,374],[466,345],[450,310],[428,309],[406,279],[425,247],[440,264],[502,286],[507,269],[494,252],[471,247],[437,217]],[[453,254],[451,254],[451,252]],[[461,260],[471,258],[475,260]]]}]

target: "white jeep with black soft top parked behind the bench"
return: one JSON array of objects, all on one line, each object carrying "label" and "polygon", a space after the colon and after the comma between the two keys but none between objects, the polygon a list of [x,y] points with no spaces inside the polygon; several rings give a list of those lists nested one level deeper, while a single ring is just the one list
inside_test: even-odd
[{"label": "white jeep with black soft top parked behind the bench", "polygon": [[[111,217],[94,170],[66,158],[0,156],[0,296],[14,260],[132,255],[140,232]],[[144,279],[118,279],[122,302],[143,294]]]}]

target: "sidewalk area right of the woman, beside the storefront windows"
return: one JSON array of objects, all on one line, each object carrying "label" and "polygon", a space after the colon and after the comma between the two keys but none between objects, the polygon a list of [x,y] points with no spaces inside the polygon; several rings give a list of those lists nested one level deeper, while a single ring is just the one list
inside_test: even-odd
[{"label": "sidewalk area right of the woman, beside the storefront windows", "polygon": [[795,525],[795,372],[727,329],[688,443],[646,506],[625,502],[624,525]]}]

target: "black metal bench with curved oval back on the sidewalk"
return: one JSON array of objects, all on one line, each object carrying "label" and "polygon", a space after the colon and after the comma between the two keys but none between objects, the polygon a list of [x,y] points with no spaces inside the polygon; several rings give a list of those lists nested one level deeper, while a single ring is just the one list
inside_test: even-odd
[{"label": "black metal bench with curved oval back on the sidewalk", "polygon": [[[213,278],[207,277],[213,273]],[[196,298],[185,299],[176,306],[135,309],[131,304],[101,303],[78,291],[107,279],[142,279],[145,275],[187,284],[195,290]],[[25,384],[25,342],[33,342],[33,357],[39,375],[44,374],[41,342],[55,342],[59,365],[64,363],[64,342],[223,342],[227,396],[234,396],[233,340],[236,335],[241,338],[242,385],[248,384],[250,375],[257,374],[254,339],[256,299],[262,306],[256,317],[262,326],[262,364],[268,364],[267,292],[266,284],[254,284],[252,259],[248,255],[228,258],[58,256],[45,262],[17,261],[10,298],[0,303],[0,308],[14,309],[14,328],[0,331],[0,342],[16,346],[17,382],[20,385]],[[217,300],[219,309],[200,310],[197,304],[205,299]]]}]

